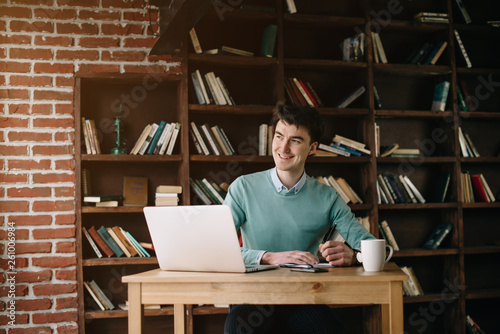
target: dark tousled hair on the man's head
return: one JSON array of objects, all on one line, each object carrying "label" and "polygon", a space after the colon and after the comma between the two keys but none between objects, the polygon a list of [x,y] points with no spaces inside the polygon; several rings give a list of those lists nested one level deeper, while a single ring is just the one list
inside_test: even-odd
[{"label": "dark tousled hair on the man's head", "polygon": [[280,105],[271,118],[273,131],[276,130],[276,124],[278,124],[279,121],[283,121],[297,127],[301,126],[306,128],[309,131],[309,136],[311,137],[311,142],[309,144],[314,142],[319,143],[325,129],[325,123],[323,122],[318,110],[311,107]]}]

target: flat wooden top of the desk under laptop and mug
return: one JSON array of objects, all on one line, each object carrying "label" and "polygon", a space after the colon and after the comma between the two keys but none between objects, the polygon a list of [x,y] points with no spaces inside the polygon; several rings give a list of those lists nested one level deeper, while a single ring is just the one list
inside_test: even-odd
[{"label": "flat wooden top of the desk under laptop and mug", "polygon": [[246,282],[390,282],[406,281],[408,276],[399,267],[389,262],[384,271],[365,272],[363,267],[335,267],[327,273],[307,273],[290,271],[288,268],[259,271],[253,273],[215,273],[164,271],[154,269],[143,273],[123,276],[124,283],[246,283]]}]

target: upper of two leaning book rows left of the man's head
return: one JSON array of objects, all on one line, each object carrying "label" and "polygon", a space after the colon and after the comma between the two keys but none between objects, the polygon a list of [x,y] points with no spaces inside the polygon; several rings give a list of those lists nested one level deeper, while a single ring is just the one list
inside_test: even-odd
[{"label": "upper of two leaning book rows left of the man's head", "polygon": [[235,105],[224,81],[214,72],[201,75],[200,70],[196,70],[191,73],[191,81],[199,104]]}]

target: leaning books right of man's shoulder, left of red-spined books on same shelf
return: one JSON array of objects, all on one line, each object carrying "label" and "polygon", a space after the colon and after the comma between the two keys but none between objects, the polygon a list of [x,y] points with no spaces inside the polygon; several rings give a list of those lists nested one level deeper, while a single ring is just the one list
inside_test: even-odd
[{"label": "leaning books right of man's shoulder, left of red-spined books on same shelf", "polygon": [[377,195],[378,204],[425,203],[422,194],[406,175],[379,174]]}]

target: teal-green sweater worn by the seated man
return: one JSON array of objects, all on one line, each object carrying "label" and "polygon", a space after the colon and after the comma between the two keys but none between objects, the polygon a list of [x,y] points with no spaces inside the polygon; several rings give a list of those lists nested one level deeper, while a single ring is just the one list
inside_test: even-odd
[{"label": "teal-green sweater worn by the seated man", "polygon": [[236,229],[241,229],[246,264],[256,264],[261,251],[316,255],[334,223],[353,248],[374,238],[335,189],[309,176],[297,194],[278,193],[269,170],[240,176],[231,183],[224,205],[231,208]]}]

